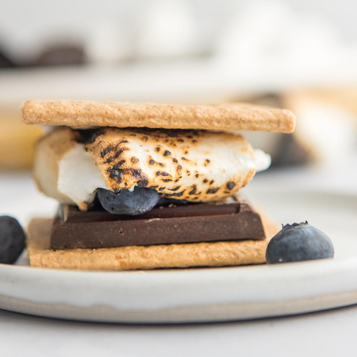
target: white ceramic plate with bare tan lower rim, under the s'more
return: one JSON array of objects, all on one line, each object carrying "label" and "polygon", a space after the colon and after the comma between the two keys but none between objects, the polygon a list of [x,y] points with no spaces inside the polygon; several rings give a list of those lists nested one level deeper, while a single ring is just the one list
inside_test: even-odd
[{"label": "white ceramic plate with bare tan lower rim, under the s'more", "polygon": [[0,308],[107,322],[199,322],[278,316],[357,303],[357,197],[249,192],[281,223],[308,220],[335,259],[281,265],[134,272],[0,265]]}]

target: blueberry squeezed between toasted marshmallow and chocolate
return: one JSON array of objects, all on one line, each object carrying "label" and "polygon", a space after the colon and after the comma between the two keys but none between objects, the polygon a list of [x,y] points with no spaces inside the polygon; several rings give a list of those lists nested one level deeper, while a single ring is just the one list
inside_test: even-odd
[{"label": "blueberry squeezed between toasted marshmallow and chocolate", "polygon": [[135,186],[132,192],[121,190],[119,193],[104,188],[98,189],[98,199],[102,207],[117,215],[142,215],[150,211],[159,198],[157,191],[139,186]]}]

